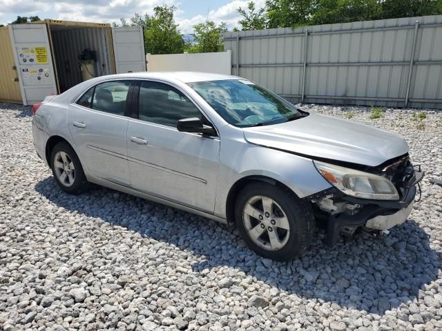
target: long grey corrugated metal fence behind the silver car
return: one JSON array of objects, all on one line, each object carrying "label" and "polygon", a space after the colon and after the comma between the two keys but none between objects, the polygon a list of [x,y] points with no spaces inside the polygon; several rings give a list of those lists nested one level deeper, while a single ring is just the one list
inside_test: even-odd
[{"label": "long grey corrugated metal fence behind the silver car", "polygon": [[442,15],[227,32],[224,49],[294,102],[442,108]]}]

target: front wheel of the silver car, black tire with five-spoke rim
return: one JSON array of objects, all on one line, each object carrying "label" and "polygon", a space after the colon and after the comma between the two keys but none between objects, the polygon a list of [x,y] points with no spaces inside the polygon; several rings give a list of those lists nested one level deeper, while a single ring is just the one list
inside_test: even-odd
[{"label": "front wheel of the silver car, black tire with five-spoke rim", "polygon": [[297,257],[314,233],[310,206],[288,189],[264,182],[250,183],[238,194],[235,219],[249,248],[279,261]]}]

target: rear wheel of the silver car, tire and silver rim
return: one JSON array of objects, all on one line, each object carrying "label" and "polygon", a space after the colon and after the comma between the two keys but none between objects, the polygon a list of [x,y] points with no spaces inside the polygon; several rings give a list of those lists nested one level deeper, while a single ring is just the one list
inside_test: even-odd
[{"label": "rear wheel of the silver car, tire and silver rim", "polygon": [[84,192],[88,181],[80,160],[73,148],[66,142],[57,143],[50,153],[50,168],[61,190],[69,194]]}]

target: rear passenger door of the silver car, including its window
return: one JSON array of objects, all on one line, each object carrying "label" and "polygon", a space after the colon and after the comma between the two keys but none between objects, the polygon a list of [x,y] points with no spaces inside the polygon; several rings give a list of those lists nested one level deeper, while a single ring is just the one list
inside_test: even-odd
[{"label": "rear passenger door of the silver car, including its window", "polygon": [[[126,99],[131,81],[100,83],[70,105],[69,130],[88,172],[129,186]],[[128,101],[128,100],[127,100]]]}]

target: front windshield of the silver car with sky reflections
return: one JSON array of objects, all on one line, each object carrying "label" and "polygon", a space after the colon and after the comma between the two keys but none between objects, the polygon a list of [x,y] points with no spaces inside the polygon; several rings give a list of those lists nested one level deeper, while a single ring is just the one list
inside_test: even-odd
[{"label": "front windshield of the silver car with sky reflections", "polygon": [[308,114],[247,79],[198,81],[188,85],[233,126],[265,126]]}]

